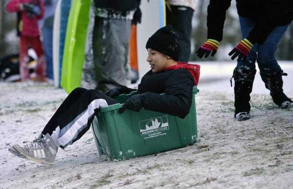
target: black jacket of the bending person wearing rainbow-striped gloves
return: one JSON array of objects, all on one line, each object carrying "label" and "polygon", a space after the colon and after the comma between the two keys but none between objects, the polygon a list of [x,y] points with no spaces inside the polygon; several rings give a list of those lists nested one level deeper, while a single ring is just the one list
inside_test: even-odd
[{"label": "black jacket of the bending person wearing rainbow-striped gloves", "polygon": [[[226,10],[231,0],[210,0],[208,5],[208,39],[222,41]],[[246,37],[262,45],[277,26],[291,23],[293,0],[236,0],[239,16],[254,20],[256,25]]]}]

